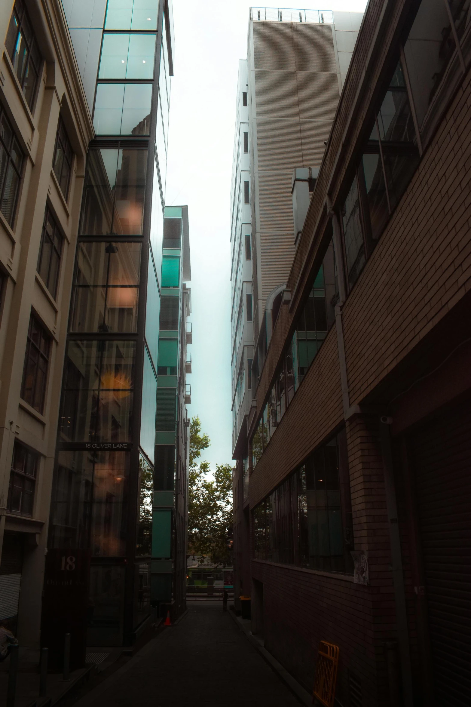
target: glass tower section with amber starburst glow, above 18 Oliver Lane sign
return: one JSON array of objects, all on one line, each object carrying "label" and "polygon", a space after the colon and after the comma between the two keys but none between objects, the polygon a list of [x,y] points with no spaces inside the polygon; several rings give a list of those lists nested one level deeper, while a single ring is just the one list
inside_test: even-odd
[{"label": "glass tower section with amber starburst glow, above 18 Oliver Lane sign", "polygon": [[68,341],[60,432],[73,442],[129,442],[133,341]]}]

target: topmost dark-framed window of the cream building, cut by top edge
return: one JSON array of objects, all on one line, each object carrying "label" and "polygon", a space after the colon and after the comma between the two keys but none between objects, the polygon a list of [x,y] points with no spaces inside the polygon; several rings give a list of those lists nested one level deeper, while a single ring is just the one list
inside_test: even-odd
[{"label": "topmost dark-framed window of the cream building, cut by top edge", "polygon": [[[25,48],[27,50],[25,62],[20,71],[20,76],[18,76],[18,66],[15,66],[15,53],[18,46],[19,37],[21,37],[21,39],[23,40]],[[35,105],[37,87],[40,83],[43,59],[39,45],[37,44],[34,31],[32,30],[32,22],[30,21],[28,10],[26,9],[23,0],[16,0],[13,6],[10,22],[8,23],[5,45],[6,50],[8,52],[8,57],[10,57],[11,59],[15,75],[18,78],[18,83],[20,84],[21,90],[25,97],[25,101],[28,104],[28,108],[32,112]],[[30,71],[34,76],[34,81],[30,93],[30,98],[28,100],[28,98],[26,98],[25,91]]]}]

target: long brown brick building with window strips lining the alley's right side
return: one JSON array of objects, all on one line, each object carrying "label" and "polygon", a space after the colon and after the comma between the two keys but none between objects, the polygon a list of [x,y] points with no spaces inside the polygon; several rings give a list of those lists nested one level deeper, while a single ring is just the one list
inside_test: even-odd
[{"label": "long brown brick building with window strips lining the alley's right side", "polygon": [[370,0],[234,474],[253,631],[344,707],[471,701],[470,62],[469,1]]}]

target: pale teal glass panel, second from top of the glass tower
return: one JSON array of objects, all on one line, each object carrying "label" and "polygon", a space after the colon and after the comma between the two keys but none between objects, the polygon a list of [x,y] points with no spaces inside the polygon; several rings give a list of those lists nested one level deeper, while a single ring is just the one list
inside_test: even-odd
[{"label": "pale teal glass panel, second from top of the glass tower", "polygon": [[153,78],[155,35],[103,35],[98,78]]}]

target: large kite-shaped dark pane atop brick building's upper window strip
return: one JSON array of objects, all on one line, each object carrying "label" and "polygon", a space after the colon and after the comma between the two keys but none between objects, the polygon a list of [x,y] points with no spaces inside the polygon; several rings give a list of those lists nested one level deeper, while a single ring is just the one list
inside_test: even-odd
[{"label": "large kite-shaped dark pane atop brick building's upper window strip", "polygon": [[443,0],[422,0],[404,53],[419,126],[455,49]]}]

